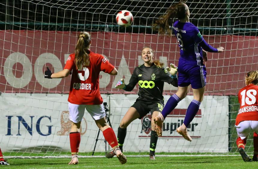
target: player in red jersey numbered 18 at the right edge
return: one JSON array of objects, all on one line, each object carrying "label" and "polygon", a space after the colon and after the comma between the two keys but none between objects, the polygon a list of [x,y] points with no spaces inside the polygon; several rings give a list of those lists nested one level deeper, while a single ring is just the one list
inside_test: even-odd
[{"label": "player in red jersey numbered 18 at the right edge", "polygon": [[258,71],[248,72],[245,77],[246,86],[239,90],[240,109],[235,119],[238,138],[236,140],[239,153],[245,162],[251,161],[244,151],[247,137],[253,129],[253,161],[258,161]]}]

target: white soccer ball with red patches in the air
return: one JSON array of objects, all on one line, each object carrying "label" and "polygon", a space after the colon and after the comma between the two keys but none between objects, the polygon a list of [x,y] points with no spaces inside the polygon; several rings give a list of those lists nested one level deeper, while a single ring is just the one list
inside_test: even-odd
[{"label": "white soccer ball with red patches in the air", "polygon": [[116,15],[116,23],[120,26],[130,26],[133,23],[134,17],[128,10],[122,10]]}]

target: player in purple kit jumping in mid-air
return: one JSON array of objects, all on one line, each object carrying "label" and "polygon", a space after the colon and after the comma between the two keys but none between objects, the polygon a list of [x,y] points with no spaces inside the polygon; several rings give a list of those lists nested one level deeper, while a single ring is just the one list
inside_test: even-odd
[{"label": "player in purple kit jumping in mid-air", "polygon": [[[164,119],[176,107],[189,91],[189,85],[193,89],[193,100],[187,108],[182,126],[177,128],[177,132],[188,141],[192,138],[187,132],[187,126],[199,110],[206,85],[206,68],[203,60],[207,61],[206,52],[223,52],[223,47],[217,49],[208,45],[200,34],[198,28],[189,22],[190,11],[183,2],[173,4],[167,9],[167,13],[159,17],[153,25],[160,34],[171,35],[168,19],[178,18],[173,25],[173,32],[179,42],[180,58],[178,63],[178,91],[170,97],[164,106],[162,115],[156,117],[155,130],[159,136],[162,135],[162,125]],[[205,51],[202,51],[204,49]]]}]

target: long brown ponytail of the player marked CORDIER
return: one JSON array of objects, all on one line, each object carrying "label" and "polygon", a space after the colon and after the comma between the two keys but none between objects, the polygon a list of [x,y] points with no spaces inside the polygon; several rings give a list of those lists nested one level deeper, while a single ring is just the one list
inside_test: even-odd
[{"label": "long brown ponytail of the player marked CORDIER", "polygon": [[80,32],[78,41],[75,46],[75,65],[77,69],[82,69],[84,65],[90,64],[89,45],[91,41],[91,35],[88,32]]}]

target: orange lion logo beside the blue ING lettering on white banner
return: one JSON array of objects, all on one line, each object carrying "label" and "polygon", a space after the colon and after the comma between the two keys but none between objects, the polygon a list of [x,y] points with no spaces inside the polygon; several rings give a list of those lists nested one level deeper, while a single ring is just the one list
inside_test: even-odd
[{"label": "orange lion logo beside the blue ING lettering on white banner", "polygon": [[[80,128],[81,135],[84,135],[87,130],[87,122],[83,117],[85,122],[85,130],[82,132],[82,123]],[[69,135],[71,129],[71,121],[69,120],[69,111],[63,111],[61,114],[61,130],[57,132],[57,135]]]}]

